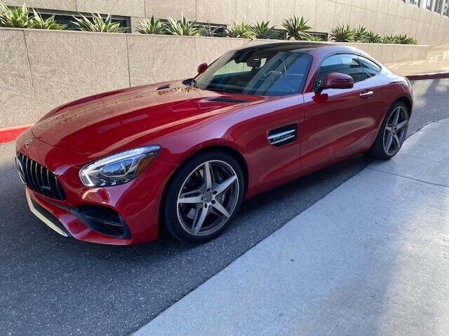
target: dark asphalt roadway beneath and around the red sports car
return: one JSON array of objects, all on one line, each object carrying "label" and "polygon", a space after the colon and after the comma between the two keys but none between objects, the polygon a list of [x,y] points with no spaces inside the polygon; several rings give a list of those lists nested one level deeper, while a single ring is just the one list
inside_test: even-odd
[{"label": "dark asphalt roadway beneath and around the red sports car", "polygon": [[[449,79],[413,83],[408,134],[449,117]],[[14,145],[0,145],[0,335],[129,335],[371,163],[358,156],[243,204],[203,245],[67,239],[27,209]]]}]

